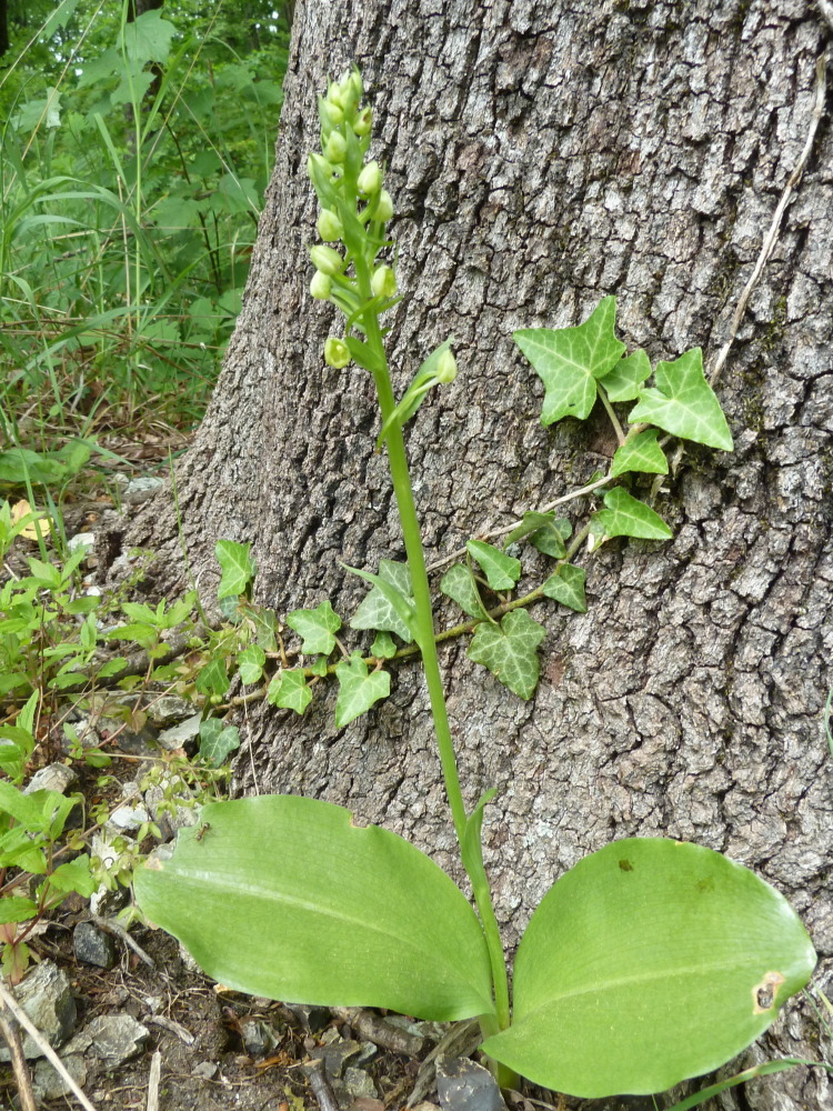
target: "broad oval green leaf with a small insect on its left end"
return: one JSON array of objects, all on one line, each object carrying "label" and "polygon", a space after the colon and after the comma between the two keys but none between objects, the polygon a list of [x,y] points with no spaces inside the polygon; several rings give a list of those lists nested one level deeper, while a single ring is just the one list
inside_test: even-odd
[{"label": "broad oval green leaf with a small insect on its left end", "polygon": [[171,860],[149,861],[134,882],[142,912],[215,980],[439,1021],[492,1011],[474,911],[395,833],[291,795],[212,803],[201,818]]}]

